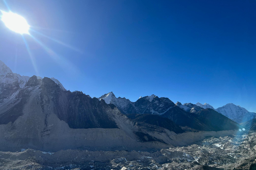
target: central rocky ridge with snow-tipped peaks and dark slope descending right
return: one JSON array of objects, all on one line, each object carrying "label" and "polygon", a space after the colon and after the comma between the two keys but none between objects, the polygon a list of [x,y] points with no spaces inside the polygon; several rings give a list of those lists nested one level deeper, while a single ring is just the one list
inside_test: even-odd
[{"label": "central rocky ridge with snow-tipped peaks and dark slope descending right", "polygon": [[[224,130],[225,125],[219,124],[217,126],[209,126],[210,124],[205,122],[198,112],[203,110],[203,108],[187,103],[181,105],[181,103],[177,102],[176,105],[168,98],[151,95],[140,97],[136,102],[131,102],[126,98],[116,98],[113,92],[104,94],[100,98],[100,101],[105,101],[107,104],[115,105],[123,114],[152,114],[158,115],[163,118],[168,118],[172,120],[175,124],[182,127],[189,127],[197,130]],[[189,113],[188,113],[189,112]],[[228,118],[223,117],[216,111],[212,110],[213,114],[208,114],[209,119],[215,119],[215,117],[221,117],[222,119],[228,120]],[[230,127],[235,125],[236,123],[228,122]],[[226,129],[227,130],[227,129]]]}]

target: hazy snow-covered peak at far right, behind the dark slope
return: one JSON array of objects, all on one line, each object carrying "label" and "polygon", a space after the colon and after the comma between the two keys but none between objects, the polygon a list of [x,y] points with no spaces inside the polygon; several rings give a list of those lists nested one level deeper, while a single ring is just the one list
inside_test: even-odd
[{"label": "hazy snow-covered peak at far right, behind the dark slope", "polygon": [[256,113],[249,112],[245,108],[236,106],[233,103],[228,103],[225,106],[219,107],[216,111],[239,124],[256,117]]}]

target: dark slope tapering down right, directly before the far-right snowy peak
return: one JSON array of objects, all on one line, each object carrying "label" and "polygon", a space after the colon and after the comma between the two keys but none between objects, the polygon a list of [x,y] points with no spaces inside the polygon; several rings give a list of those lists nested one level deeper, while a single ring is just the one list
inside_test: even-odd
[{"label": "dark slope tapering down right, directly before the far-right snowy peak", "polygon": [[198,120],[206,124],[209,130],[218,131],[243,128],[238,123],[228,119],[213,109],[204,109],[196,114],[198,115]]}]

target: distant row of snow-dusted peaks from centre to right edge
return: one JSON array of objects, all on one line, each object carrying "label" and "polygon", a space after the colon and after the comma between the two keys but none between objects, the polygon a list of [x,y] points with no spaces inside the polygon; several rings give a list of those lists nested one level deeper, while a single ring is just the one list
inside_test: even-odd
[{"label": "distant row of snow-dusted peaks from centre to right edge", "polygon": [[[205,103],[185,103],[181,104],[177,102],[174,104],[168,98],[159,98],[155,95],[140,97],[136,102],[131,102],[126,98],[116,98],[113,92],[107,93],[99,97],[99,100],[103,99],[107,104],[114,104],[122,113],[130,114],[155,114],[163,115],[172,109],[175,105],[182,110],[189,113],[196,113],[203,109],[213,109],[218,113],[228,117],[236,123],[243,123],[256,117],[256,113],[249,112],[241,106],[236,106],[233,103],[228,103],[225,106],[214,109],[210,104]],[[143,107],[142,107],[143,106]]]}]

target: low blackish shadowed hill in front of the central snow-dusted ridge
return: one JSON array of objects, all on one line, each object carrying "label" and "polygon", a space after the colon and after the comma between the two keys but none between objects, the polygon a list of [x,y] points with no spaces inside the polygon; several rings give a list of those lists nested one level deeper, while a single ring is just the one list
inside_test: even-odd
[{"label": "low blackish shadowed hill in front of the central snow-dusted ridge", "polygon": [[173,121],[167,118],[162,118],[158,115],[151,114],[128,114],[126,115],[128,118],[132,119],[133,122],[137,122],[138,125],[141,123],[146,123],[150,125],[159,126],[162,128],[166,128],[170,131],[174,131],[175,133],[183,133],[184,131],[177,126]]}]

